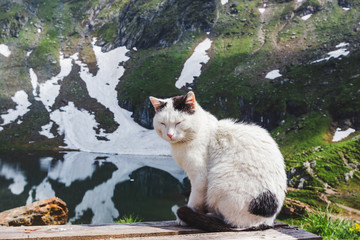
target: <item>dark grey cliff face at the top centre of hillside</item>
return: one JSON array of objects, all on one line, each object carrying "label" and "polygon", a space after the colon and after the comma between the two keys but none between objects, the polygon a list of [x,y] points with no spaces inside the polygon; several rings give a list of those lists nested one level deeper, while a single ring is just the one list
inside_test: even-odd
[{"label": "dark grey cliff face at the top centre of hillside", "polygon": [[217,2],[131,0],[120,12],[116,43],[129,49],[164,48],[179,41],[185,32],[208,32],[216,18]]}]

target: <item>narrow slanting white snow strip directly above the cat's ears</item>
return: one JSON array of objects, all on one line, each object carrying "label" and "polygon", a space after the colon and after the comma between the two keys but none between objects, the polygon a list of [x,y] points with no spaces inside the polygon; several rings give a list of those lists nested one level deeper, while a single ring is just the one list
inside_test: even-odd
[{"label": "narrow slanting white snow strip directly above the cat's ears", "polygon": [[194,77],[200,76],[202,63],[205,64],[210,60],[206,51],[210,49],[211,43],[212,41],[206,38],[195,48],[194,53],[186,60],[180,77],[175,83],[177,88],[180,89],[187,83],[192,83]]}]

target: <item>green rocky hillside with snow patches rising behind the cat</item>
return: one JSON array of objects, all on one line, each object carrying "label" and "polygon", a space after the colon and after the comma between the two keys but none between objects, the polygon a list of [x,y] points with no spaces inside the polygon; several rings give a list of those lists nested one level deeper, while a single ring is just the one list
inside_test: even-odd
[{"label": "green rocky hillside with snow patches rising behind the cat", "polygon": [[218,118],[270,130],[289,186],[359,208],[357,0],[5,0],[0,44],[1,149],[122,152],[141,138],[148,152],[148,96],[192,89]]}]

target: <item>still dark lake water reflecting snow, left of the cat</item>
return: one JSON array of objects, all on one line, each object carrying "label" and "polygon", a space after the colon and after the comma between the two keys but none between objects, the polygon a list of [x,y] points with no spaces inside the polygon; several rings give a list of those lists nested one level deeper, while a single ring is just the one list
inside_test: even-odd
[{"label": "still dark lake water reflecting snow, left of the cat", "polygon": [[0,211],[59,197],[70,223],[110,223],[130,214],[175,219],[186,174],[169,156],[87,152],[0,152]]}]

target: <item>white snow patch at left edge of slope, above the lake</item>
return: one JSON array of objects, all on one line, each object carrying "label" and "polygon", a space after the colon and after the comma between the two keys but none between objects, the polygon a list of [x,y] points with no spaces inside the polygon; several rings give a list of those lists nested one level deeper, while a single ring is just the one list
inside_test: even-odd
[{"label": "white snow patch at left edge of slope, above the lake", "polygon": [[[4,120],[4,122],[0,126],[4,126],[11,122],[14,122],[19,117],[24,116],[30,109],[31,103],[28,100],[28,95],[25,91],[20,90],[15,93],[15,95],[11,98],[17,105],[15,109],[9,109],[7,113],[0,115],[0,117]],[[21,122],[18,122],[21,123]],[[1,129],[0,129],[1,131]]]}]

